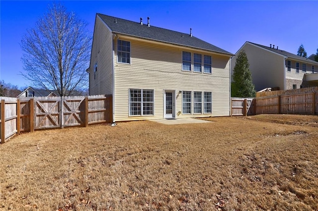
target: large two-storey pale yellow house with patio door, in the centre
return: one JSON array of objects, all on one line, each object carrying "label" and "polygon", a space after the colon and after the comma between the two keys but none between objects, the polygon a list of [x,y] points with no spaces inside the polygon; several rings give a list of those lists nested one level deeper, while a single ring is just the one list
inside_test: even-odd
[{"label": "large two-storey pale yellow house with patio door, in the centre", "polygon": [[96,14],[89,94],[113,96],[113,121],[229,116],[230,58],[191,34]]}]

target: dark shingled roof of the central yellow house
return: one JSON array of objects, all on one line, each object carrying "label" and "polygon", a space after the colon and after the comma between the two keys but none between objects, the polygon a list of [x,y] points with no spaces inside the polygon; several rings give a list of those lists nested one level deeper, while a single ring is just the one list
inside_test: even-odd
[{"label": "dark shingled roof of the central yellow house", "polygon": [[171,31],[152,25],[148,27],[147,20],[144,21],[143,25],[141,25],[139,22],[133,22],[100,13],[97,13],[97,15],[114,33],[233,55],[232,53],[200,40],[199,38],[191,37],[186,33]]}]

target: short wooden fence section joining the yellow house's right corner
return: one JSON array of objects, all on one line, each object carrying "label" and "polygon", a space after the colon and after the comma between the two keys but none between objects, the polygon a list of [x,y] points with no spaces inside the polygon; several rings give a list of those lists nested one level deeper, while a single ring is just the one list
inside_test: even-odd
[{"label": "short wooden fence section joining the yellow house's right corner", "polygon": [[250,109],[253,98],[231,98],[232,100],[232,116],[246,116],[252,114]]}]

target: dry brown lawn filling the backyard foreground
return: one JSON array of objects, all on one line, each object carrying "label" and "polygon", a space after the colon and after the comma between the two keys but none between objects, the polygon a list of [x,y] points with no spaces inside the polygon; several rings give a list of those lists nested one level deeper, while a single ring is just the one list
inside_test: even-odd
[{"label": "dry brown lawn filling the backyard foreground", "polygon": [[0,145],[0,210],[318,210],[318,116],[122,122]]}]

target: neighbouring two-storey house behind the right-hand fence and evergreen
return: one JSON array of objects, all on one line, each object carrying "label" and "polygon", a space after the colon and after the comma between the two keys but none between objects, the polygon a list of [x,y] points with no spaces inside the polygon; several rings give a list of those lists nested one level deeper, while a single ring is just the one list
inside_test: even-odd
[{"label": "neighbouring two-storey house behind the right-hand fence and evergreen", "polygon": [[256,91],[289,90],[318,86],[318,62],[280,50],[274,45],[245,42],[231,59],[233,72],[237,55],[245,51]]}]

